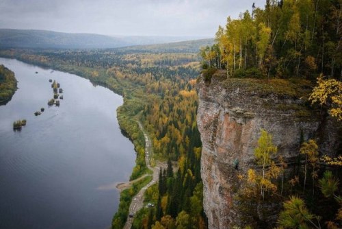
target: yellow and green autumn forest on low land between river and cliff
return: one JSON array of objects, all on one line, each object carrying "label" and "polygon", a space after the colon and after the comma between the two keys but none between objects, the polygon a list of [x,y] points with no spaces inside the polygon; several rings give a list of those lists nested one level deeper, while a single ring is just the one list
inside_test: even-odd
[{"label": "yellow and green autumn forest on low land between river and cliff", "polygon": [[[148,172],[144,136],[135,119],[143,123],[150,135],[152,164],[160,159],[169,165],[167,171],[161,172],[159,185],[146,190],[146,203],[153,203],[154,207],[137,213],[133,228],[151,228],[159,224],[156,221],[166,228],[206,228],[200,178],[201,143],[196,125],[198,98],[194,88],[200,74],[200,59],[198,49],[188,52],[186,45],[180,45],[162,53],[148,49],[137,53],[124,49],[0,51],[4,57],[81,75],[124,95],[118,120],[137,152],[131,180]],[[174,173],[172,164],[176,165]],[[122,192],[113,228],[124,225],[137,186],[140,184]]]}]

